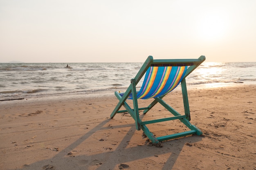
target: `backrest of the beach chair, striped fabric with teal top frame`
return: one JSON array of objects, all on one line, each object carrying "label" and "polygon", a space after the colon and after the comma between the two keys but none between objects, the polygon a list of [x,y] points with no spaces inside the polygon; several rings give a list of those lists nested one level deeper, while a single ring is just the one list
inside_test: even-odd
[{"label": "backrest of the beach chair, striped fabric with teal top frame", "polygon": [[[203,55],[198,59],[169,60],[153,60],[152,56],[148,56],[134,78],[135,84],[137,84],[146,73],[143,84],[137,93],[137,99],[149,99],[166,95],[175,89],[204,60]],[[128,99],[132,99],[132,94],[128,96]]]}]

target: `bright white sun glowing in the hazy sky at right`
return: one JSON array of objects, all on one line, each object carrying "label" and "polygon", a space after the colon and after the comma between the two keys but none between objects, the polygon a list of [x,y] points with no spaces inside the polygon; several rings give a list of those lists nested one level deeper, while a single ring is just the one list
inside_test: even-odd
[{"label": "bright white sun glowing in the hazy sky at right", "polygon": [[206,13],[198,20],[198,36],[202,40],[220,40],[227,33],[227,24],[223,13]]}]

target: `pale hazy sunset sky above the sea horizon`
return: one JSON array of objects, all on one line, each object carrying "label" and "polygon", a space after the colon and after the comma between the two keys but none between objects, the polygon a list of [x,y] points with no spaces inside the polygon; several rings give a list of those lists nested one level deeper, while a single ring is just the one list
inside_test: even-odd
[{"label": "pale hazy sunset sky above the sea horizon", "polygon": [[0,0],[0,62],[256,62],[256,0]]}]

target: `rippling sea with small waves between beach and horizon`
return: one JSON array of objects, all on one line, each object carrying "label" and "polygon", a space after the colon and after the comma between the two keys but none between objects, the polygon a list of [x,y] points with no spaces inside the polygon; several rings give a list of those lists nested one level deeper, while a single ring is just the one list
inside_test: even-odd
[{"label": "rippling sea with small waves between beach and horizon", "polygon": [[[69,67],[66,67],[67,64]],[[143,63],[0,63],[0,100],[125,91]],[[141,86],[141,82],[137,85]],[[204,62],[188,88],[256,84],[256,62]]]}]

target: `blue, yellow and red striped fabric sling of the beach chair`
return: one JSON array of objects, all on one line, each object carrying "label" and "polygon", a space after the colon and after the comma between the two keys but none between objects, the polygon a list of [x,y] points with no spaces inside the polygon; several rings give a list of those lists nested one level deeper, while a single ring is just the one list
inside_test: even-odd
[{"label": "blue, yellow and red striped fabric sling of the beach chair", "polygon": [[[146,71],[141,89],[137,93],[137,98],[149,99],[166,95],[180,84],[186,69],[187,66],[150,66]],[[132,99],[132,94],[128,99]]]}]

